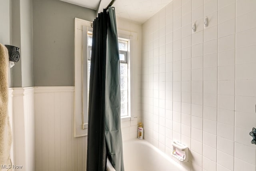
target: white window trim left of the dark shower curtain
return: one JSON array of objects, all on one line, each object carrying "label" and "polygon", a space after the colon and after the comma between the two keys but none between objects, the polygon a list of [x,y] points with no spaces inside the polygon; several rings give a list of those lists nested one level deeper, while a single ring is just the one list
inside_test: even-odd
[{"label": "white window trim left of the dark shower curtain", "polygon": [[[83,109],[87,114],[87,98],[83,97],[83,82],[87,85],[87,79],[83,79],[82,70],[87,70],[87,62],[82,66],[83,55],[87,56],[87,32],[92,32],[92,22],[75,18],[75,92],[74,92],[74,137],[87,135],[88,121]],[[86,36],[84,35],[86,34]],[[86,40],[85,40],[86,38]],[[86,45],[83,43],[86,41]],[[87,60],[86,60],[87,61]],[[83,100],[84,99],[84,100]],[[85,104],[85,106],[83,105]],[[83,108],[84,106],[84,108]]]}]

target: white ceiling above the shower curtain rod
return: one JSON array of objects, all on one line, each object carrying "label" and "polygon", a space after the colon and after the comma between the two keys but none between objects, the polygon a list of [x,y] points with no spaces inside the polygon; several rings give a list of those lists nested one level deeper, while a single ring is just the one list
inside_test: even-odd
[{"label": "white ceiling above the shower curtain rod", "polygon": [[[93,10],[106,8],[111,0],[62,0]],[[172,0],[116,0],[112,6],[116,8],[116,17],[137,23],[144,23]],[[104,4],[104,5],[103,5]],[[105,5],[107,4],[107,5]]]}]

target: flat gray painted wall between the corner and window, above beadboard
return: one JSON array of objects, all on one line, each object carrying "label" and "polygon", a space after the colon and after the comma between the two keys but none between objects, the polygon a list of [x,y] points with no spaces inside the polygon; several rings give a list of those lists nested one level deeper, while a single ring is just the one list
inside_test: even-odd
[{"label": "flat gray painted wall between the corner and window, above beadboard", "polygon": [[96,12],[60,0],[33,0],[34,86],[74,86],[74,18]]}]

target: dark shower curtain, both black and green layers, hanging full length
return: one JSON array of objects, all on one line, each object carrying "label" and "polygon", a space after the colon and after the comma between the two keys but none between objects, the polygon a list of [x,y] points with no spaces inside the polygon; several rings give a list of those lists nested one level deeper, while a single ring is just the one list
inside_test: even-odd
[{"label": "dark shower curtain, both black and green layers, hanging full length", "polygon": [[105,171],[109,158],[124,171],[120,120],[120,62],[114,7],[93,22],[88,104],[87,171]]}]

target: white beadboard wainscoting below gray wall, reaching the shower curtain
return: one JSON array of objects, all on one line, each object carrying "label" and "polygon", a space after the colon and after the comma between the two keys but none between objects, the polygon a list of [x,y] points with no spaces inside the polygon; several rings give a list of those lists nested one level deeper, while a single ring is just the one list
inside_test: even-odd
[{"label": "white beadboard wainscoting below gray wall, reaching the shower curtain", "polygon": [[36,171],[85,171],[87,136],[73,135],[74,87],[35,87]]}]

